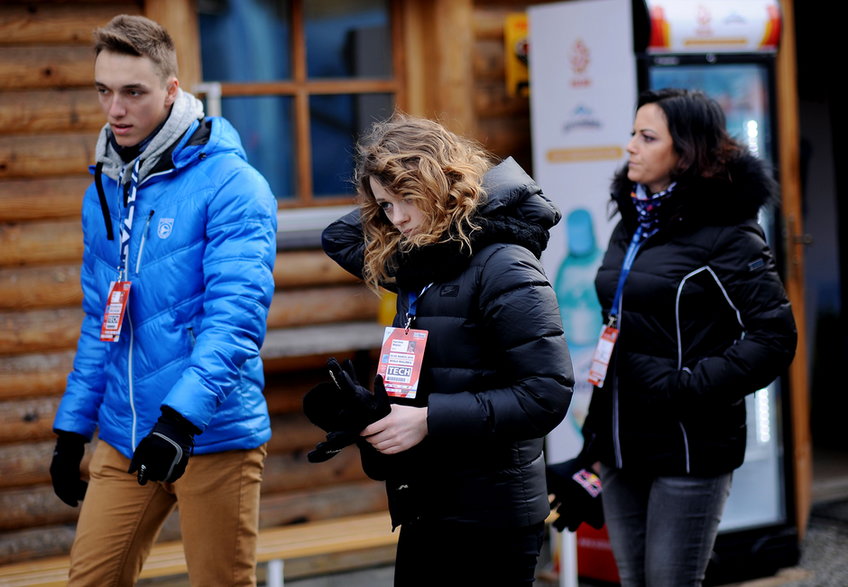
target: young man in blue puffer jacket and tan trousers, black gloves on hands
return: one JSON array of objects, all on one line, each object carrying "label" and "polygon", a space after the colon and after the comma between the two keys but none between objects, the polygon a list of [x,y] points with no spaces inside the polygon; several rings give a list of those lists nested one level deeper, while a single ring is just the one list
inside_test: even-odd
[{"label": "young man in blue puffer jacket and tan trousers, black gloves on hands", "polygon": [[94,48],[106,124],[50,466],[59,498],[83,500],[70,584],[134,584],[179,504],[192,583],[254,585],[276,201],[235,129],[180,88],[165,29],[118,16]]}]

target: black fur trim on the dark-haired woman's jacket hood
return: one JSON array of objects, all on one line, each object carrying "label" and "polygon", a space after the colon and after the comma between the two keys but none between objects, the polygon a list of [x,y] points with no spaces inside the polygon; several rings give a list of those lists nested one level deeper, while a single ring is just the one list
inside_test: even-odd
[{"label": "black fur trim on the dark-haired woman's jacket hood", "polygon": [[[612,183],[612,200],[629,228],[636,225],[630,193],[633,182],[622,167]],[[727,165],[726,176],[685,178],[660,208],[660,225],[731,226],[756,219],[762,206],[776,201],[778,186],[762,160],[740,154]]]}]

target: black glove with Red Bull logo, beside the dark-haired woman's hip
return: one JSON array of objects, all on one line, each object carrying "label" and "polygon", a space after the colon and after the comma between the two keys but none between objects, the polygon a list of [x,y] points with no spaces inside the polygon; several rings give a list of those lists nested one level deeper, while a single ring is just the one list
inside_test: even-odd
[{"label": "black glove with Red Bull logo, beside the dark-haired woman's hip", "polygon": [[604,525],[601,480],[580,459],[572,459],[545,468],[548,493],[554,495],[551,507],[559,517],[553,526],[560,532],[575,532],[583,522],[593,528]]}]

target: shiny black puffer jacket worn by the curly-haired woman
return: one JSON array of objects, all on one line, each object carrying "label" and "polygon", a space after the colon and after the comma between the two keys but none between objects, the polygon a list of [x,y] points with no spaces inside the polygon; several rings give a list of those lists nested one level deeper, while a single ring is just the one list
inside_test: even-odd
[{"label": "shiny black puffer jacket worn by the curly-haired woman", "polygon": [[[485,187],[473,255],[446,243],[399,259],[398,316],[406,314],[407,292],[433,284],[412,326],[429,333],[412,402],[428,407],[428,436],[393,456],[360,443],[366,472],[386,479],[395,525],[429,517],[520,527],[550,512],[543,438],[565,416],[574,383],[539,262],[560,213],[512,160],[494,167]],[[323,243],[361,276],[358,211],[331,224]]]}]

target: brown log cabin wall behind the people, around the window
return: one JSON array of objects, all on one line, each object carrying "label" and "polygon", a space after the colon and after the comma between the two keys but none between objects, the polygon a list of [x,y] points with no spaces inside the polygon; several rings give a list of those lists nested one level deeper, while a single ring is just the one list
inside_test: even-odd
[{"label": "brown log cabin wall behind the people, around the window", "polygon": [[[442,119],[531,171],[529,101],[507,95],[503,49],[506,15],[528,3],[398,1],[409,79],[402,106]],[[179,15],[190,5],[0,4],[0,564],[67,553],[78,514],[54,496],[48,467],[51,424],[82,317],[79,208],[103,123],[92,88],[91,32],[120,13],[146,14],[173,32],[186,26]],[[190,46],[196,38],[191,30],[175,34],[181,66],[198,55]],[[180,46],[186,39],[189,46]],[[195,80],[196,64],[182,74],[190,87],[185,75]],[[303,393],[323,378],[327,356],[373,358],[367,341],[377,326],[377,299],[314,246],[289,246],[285,238],[275,281],[263,347],[273,438],[261,525],[383,509],[382,484],[364,477],[355,450],[307,463],[306,452],[323,435],[300,410]],[[91,447],[84,467],[90,454]],[[176,515],[162,540],[179,536]]]}]

